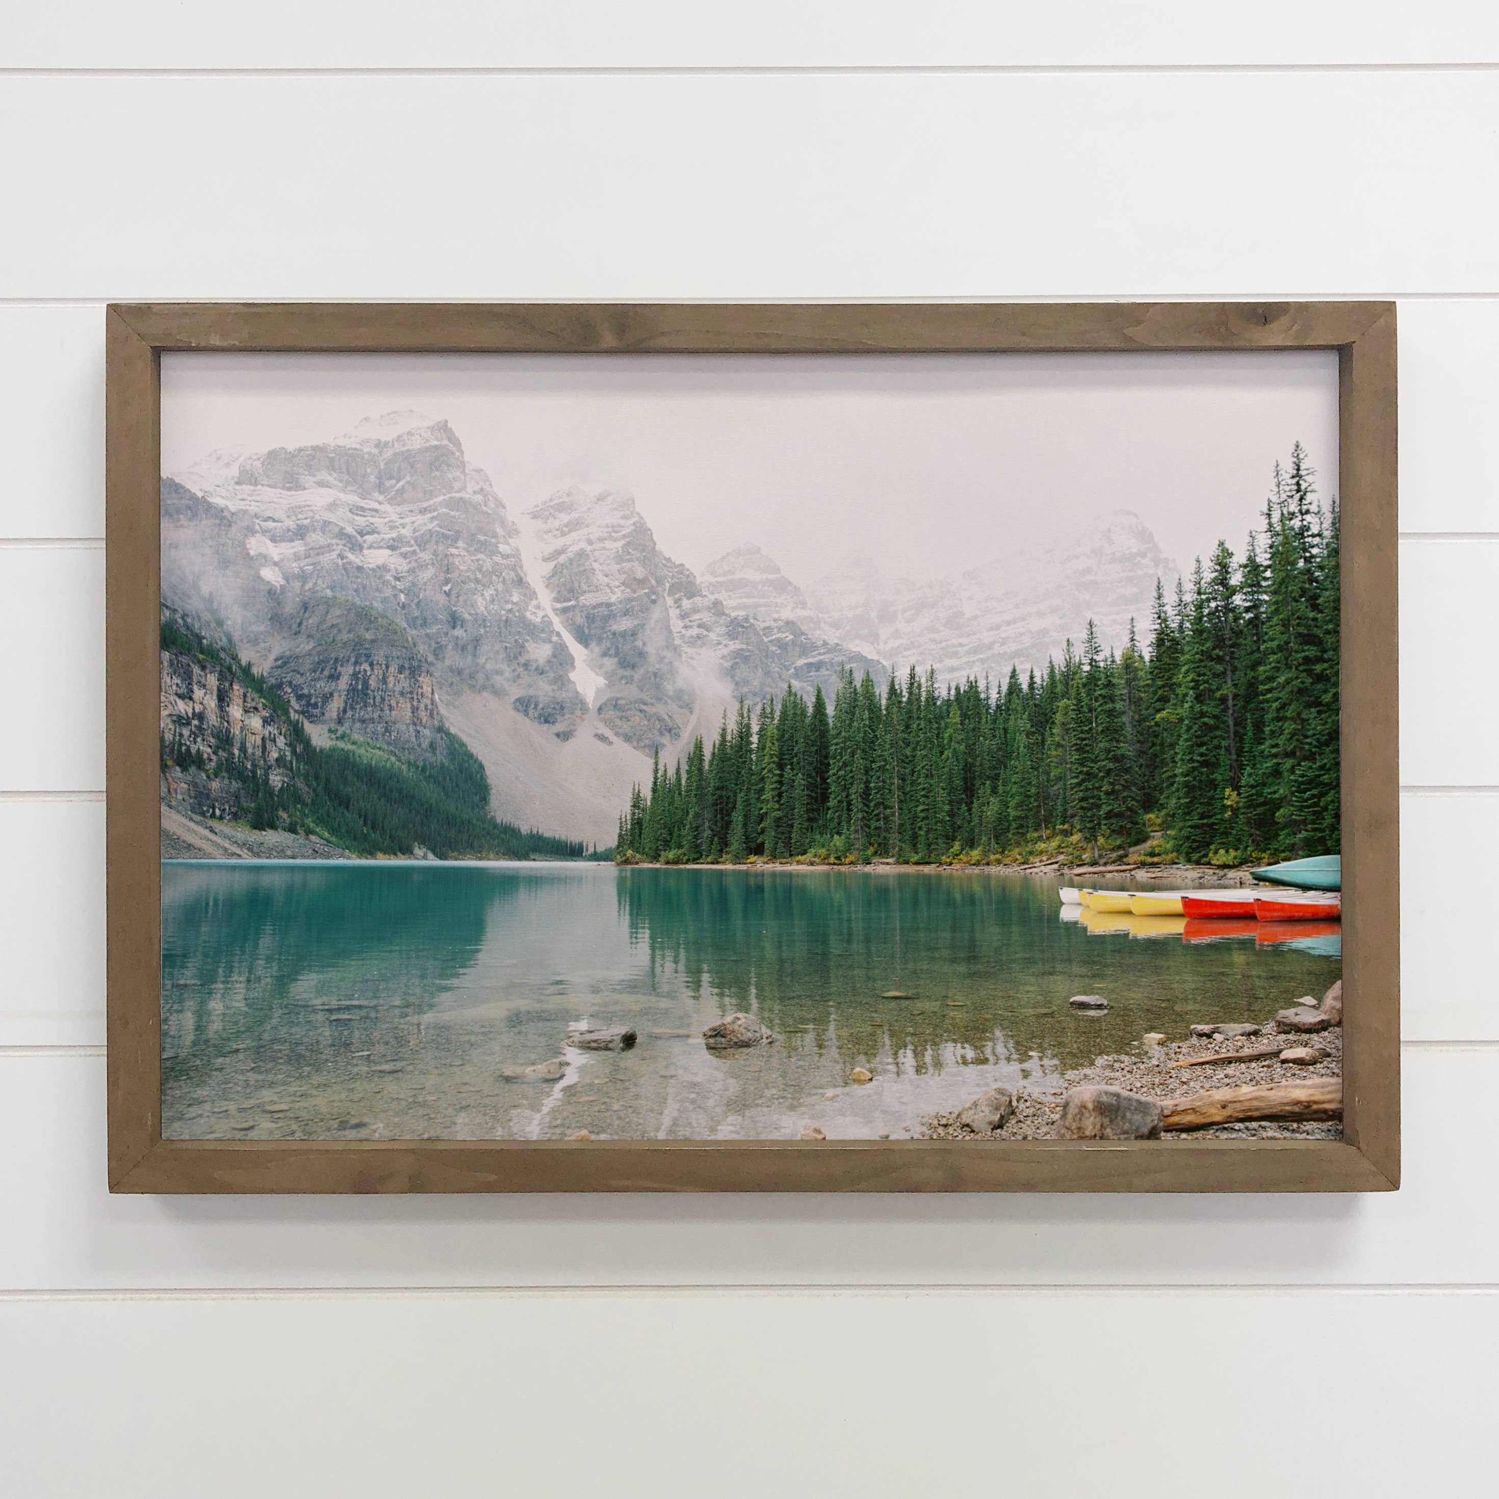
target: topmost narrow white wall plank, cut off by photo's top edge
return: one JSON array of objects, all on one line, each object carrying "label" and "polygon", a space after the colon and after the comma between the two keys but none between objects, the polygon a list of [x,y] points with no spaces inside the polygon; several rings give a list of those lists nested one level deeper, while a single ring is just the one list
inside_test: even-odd
[{"label": "topmost narrow white wall plank, cut off by photo's top edge", "polygon": [[1108,0],[994,6],[766,0],[752,12],[694,0],[436,0],[412,24],[397,0],[183,6],[106,0],[28,7],[10,67],[913,67],[1477,63],[1499,60],[1492,10],[1435,0],[1264,0],[1201,6]]}]

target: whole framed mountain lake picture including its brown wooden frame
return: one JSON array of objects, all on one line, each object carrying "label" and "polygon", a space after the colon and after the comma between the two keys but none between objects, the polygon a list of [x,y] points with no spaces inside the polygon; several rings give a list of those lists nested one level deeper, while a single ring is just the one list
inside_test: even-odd
[{"label": "whole framed mountain lake picture including its brown wooden frame", "polygon": [[1399,1184],[1388,303],[108,310],[115,1192]]}]

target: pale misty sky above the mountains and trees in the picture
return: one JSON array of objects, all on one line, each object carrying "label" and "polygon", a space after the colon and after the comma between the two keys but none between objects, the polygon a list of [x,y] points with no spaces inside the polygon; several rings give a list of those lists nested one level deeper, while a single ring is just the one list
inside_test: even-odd
[{"label": "pale misty sky above the mountains and trees in the picture", "polygon": [[950,577],[1136,511],[1189,570],[1256,526],[1298,438],[1337,489],[1331,352],[166,354],[162,466],[445,417],[501,498],[625,489],[697,570],[748,541],[797,583],[866,552]]}]

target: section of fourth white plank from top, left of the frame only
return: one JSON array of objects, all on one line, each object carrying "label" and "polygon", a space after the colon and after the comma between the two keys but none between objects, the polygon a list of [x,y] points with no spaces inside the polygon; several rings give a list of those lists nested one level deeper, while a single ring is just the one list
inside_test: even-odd
[{"label": "section of fourth white plank from top, left of the frame only", "polygon": [[0,547],[0,791],[103,788],[103,552]]}]

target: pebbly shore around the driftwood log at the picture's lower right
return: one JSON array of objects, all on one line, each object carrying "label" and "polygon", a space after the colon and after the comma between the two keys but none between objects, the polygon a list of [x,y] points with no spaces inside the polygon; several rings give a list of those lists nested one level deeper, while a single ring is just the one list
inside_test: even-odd
[{"label": "pebbly shore around the driftwood log at the picture's lower right", "polygon": [[[1327,1052],[1322,1061],[1312,1066],[1294,1066],[1276,1057],[1258,1061],[1204,1063],[1196,1067],[1171,1067],[1168,1063],[1189,1057],[1211,1057],[1222,1052],[1253,1051],[1271,1040],[1285,1040],[1286,1046],[1312,1045]],[[1241,1040],[1190,1040],[1168,1042],[1157,1048],[1142,1046],[1139,1052],[1123,1057],[1099,1057],[1088,1067],[1075,1067],[1055,1079],[1046,1079],[1045,1090],[1034,1084],[1021,1085],[1015,1093],[1015,1112],[1004,1127],[992,1135],[976,1135],[958,1123],[958,1111],[931,1114],[922,1118],[913,1139],[1057,1139],[1057,1121],[1061,1118],[1061,1099],[1067,1088],[1084,1084],[1103,1084],[1126,1088],[1142,1097],[1168,1103],[1208,1088],[1235,1088],[1244,1084],[1304,1082],[1309,1078],[1339,1078],[1343,1075],[1343,1031],[1331,1030],[1313,1036],[1277,1036],[1273,1022],[1267,1022],[1264,1034],[1246,1036]],[[1208,1129],[1166,1130],[1162,1139],[1342,1139],[1343,1126],[1339,1120],[1295,1123],[1288,1120],[1256,1120],[1243,1124],[1214,1124]]]}]

